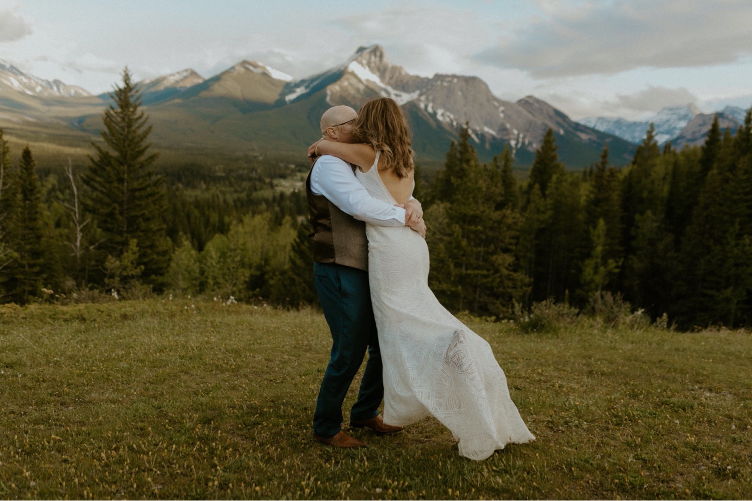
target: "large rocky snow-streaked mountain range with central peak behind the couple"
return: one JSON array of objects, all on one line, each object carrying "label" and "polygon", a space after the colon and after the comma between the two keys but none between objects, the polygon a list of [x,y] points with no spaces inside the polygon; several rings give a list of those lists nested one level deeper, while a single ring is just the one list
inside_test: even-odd
[{"label": "large rocky snow-streaked mountain range with central peak behind the couple", "polygon": [[[378,45],[360,47],[341,65],[302,80],[260,62],[241,61],[208,79],[186,69],[138,86],[155,146],[183,153],[298,158],[318,137],[319,118],[327,107],[348,104],[357,109],[380,95],[394,98],[405,110],[420,162],[438,164],[465,124],[481,160],[509,145],[521,165],[532,163],[548,128],[556,134],[559,157],[569,168],[597,161],[606,143],[611,162],[627,164],[638,142],[633,131],[637,125],[631,122],[617,123],[632,131],[629,135],[617,125],[605,125],[604,119],[575,122],[532,95],[516,102],[502,100],[478,77],[409,74],[388,62]],[[109,100],[107,94],[90,95],[0,62],[0,126],[21,140],[85,149],[99,137]],[[647,125],[639,134],[645,129]]]}]

